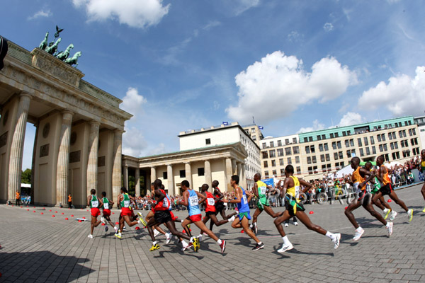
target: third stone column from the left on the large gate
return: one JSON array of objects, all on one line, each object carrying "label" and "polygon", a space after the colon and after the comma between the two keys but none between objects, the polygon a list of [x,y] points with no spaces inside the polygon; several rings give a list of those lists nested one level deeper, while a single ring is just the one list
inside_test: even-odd
[{"label": "third stone column from the left on the large gate", "polygon": [[90,195],[90,190],[97,191],[97,173],[98,173],[98,144],[99,144],[99,126],[101,123],[97,121],[90,122],[89,136],[89,163],[87,164],[87,195]]}]

